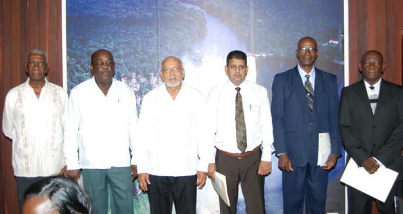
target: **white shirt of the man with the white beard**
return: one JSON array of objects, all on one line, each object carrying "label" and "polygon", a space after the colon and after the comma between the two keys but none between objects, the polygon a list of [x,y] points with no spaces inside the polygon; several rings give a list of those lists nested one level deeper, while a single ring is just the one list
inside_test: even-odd
[{"label": "white shirt of the man with the white beard", "polygon": [[157,176],[207,172],[214,156],[214,133],[208,133],[206,113],[205,96],[183,82],[175,100],[165,84],[148,92],[138,119],[137,172]]}]

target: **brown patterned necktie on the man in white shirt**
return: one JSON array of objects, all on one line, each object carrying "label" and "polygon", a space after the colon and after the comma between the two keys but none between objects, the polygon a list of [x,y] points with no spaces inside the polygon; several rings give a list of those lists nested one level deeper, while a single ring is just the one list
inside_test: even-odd
[{"label": "brown patterned necktie on the man in white shirt", "polygon": [[236,128],[236,143],[238,145],[238,149],[243,153],[246,149],[246,125],[245,118],[243,115],[243,106],[242,106],[242,96],[239,93],[241,88],[236,87],[237,91],[235,97],[235,128]]}]

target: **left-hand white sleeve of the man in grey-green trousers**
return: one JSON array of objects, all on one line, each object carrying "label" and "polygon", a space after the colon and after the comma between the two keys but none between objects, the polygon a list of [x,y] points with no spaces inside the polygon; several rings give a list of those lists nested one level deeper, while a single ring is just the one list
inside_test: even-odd
[{"label": "left-hand white sleeve of the man in grey-green trousers", "polygon": [[81,122],[79,100],[75,91],[70,92],[67,105],[67,116],[64,123],[64,154],[67,170],[78,170],[79,128]]}]

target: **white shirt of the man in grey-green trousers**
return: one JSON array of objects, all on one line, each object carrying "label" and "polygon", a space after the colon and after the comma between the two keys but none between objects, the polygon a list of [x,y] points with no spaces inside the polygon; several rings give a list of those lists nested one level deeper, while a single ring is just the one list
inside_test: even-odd
[{"label": "white shirt of the man in grey-green trousers", "polygon": [[113,79],[107,96],[88,79],[70,92],[65,123],[68,170],[130,166],[137,110],[133,91]]}]

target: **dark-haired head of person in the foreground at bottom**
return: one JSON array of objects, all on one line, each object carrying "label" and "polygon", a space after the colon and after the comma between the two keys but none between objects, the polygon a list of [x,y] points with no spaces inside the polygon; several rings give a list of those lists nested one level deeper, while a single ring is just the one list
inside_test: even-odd
[{"label": "dark-haired head of person in the foreground at bottom", "polygon": [[28,187],[22,213],[90,214],[92,201],[72,179],[49,177]]}]

